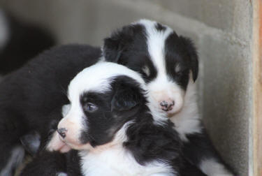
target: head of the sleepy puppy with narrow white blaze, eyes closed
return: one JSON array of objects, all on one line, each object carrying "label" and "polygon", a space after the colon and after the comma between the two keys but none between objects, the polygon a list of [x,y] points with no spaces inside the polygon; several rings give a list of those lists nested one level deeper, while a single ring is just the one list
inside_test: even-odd
[{"label": "head of the sleepy puppy with narrow white blaze, eyes closed", "polygon": [[150,20],[140,20],[105,38],[103,56],[143,75],[154,105],[170,115],[181,110],[187,85],[198,75],[191,41]]}]

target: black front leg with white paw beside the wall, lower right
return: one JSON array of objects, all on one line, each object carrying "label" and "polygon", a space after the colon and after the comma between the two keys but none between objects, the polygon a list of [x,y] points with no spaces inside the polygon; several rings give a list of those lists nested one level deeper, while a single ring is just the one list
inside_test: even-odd
[{"label": "black front leg with white paw beside the wall, lower right", "polygon": [[226,166],[216,149],[212,145],[208,134],[202,133],[187,135],[183,153],[186,159],[209,176],[231,176],[233,172]]}]

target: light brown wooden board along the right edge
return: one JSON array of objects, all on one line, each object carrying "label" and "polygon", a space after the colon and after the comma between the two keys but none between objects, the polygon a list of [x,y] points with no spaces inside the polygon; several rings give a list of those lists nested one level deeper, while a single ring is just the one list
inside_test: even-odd
[{"label": "light brown wooden board along the right edge", "polygon": [[253,164],[262,176],[262,0],[253,1]]}]

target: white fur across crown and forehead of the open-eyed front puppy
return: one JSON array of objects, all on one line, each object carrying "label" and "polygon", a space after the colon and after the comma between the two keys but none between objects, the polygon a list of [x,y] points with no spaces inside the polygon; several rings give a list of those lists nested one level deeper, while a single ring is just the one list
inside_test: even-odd
[{"label": "white fur across crown and forehead of the open-eyed front puppy", "polygon": [[145,89],[145,82],[143,78],[140,77],[139,73],[119,64],[101,61],[93,66],[85,68],[71,80],[68,86],[68,98],[72,103],[75,98],[79,99],[80,94],[85,91],[101,93],[108,91],[111,88],[110,83],[112,82],[112,78],[120,75],[133,78],[140,83],[141,88]]}]

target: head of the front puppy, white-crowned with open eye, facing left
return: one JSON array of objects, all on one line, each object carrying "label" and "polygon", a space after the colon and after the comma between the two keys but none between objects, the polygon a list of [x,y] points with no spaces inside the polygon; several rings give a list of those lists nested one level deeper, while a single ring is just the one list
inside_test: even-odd
[{"label": "head of the front puppy, white-crowned with open eye, facing left", "polygon": [[58,124],[59,138],[73,149],[105,145],[145,110],[143,79],[129,68],[99,63],[80,72],[68,87],[70,106]]}]

